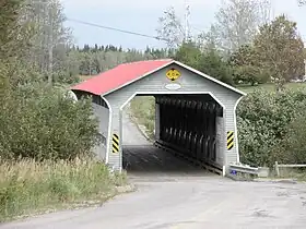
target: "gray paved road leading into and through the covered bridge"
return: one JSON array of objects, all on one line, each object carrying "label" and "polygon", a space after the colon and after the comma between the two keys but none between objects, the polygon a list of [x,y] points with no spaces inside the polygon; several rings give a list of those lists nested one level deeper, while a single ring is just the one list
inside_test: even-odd
[{"label": "gray paved road leading into and through the covered bridge", "polygon": [[125,148],[125,156],[137,192],[102,207],[39,216],[0,228],[306,228],[305,184],[234,182],[199,171],[153,146],[133,144]]}]

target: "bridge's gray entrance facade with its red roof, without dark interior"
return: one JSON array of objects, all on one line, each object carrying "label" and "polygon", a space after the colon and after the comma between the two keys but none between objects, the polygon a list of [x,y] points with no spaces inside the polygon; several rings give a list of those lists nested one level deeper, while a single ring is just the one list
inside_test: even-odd
[{"label": "bridge's gray entrance facade with its red roof, without dark interior", "polygon": [[[180,74],[174,81],[167,77],[167,73],[173,70]],[[105,144],[97,147],[96,152],[101,159],[119,171],[122,169],[122,109],[137,95],[210,95],[223,108],[217,145],[223,160],[219,166],[226,168],[231,162],[239,162],[236,108],[246,94],[178,61],[153,60],[121,64],[74,86],[72,92],[78,98],[92,95],[94,106],[97,106],[94,101],[97,98],[103,101],[98,106],[103,106],[104,113],[96,109],[95,114],[101,122],[106,123],[107,120],[107,126],[99,126]],[[156,132],[160,132],[158,112],[156,105]],[[227,135],[232,137],[229,148]]]}]

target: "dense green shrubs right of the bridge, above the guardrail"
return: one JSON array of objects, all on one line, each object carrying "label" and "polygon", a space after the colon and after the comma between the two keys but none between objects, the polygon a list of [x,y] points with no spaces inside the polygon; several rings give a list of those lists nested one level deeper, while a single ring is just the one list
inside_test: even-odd
[{"label": "dense green shrubs right of the bridge, above the guardrail", "polygon": [[238,106],[242,161],[251,166],[305,164],[305,89],[257,89]]}]

